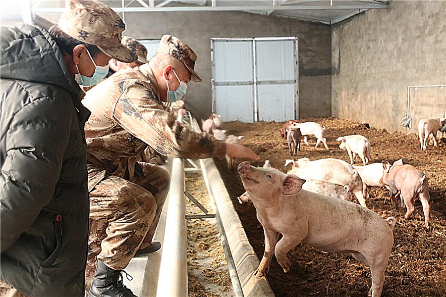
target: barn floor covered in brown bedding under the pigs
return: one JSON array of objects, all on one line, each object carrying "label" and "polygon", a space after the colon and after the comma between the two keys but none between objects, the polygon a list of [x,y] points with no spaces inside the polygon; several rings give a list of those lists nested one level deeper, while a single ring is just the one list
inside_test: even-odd
[{"label": "barn floor covered in brown bedding under the pigs", "polygon": [[[405,208],[396,199],[385,199],[388,191],[372,188],[367,205],[382,217],[394,216],[398,223],[394,229],[394,246],[386,271],[383,296],[446,296],[446,141],[439,147],[428,147],[420,151],[415,134],[389,134],[384,129],[368,128],[349,120],[337,118],[309,119],[327,127],[326,137],[330,150],[322,144],[314,148],[315,139],[310,137],[312,146],[301,145],[298,158],[312,160],[326,157],[349,161],[346,151],[338,148],[336,138],[342,135],[361,134],[372,145],[371,162],[390,162],[402,157],[404,163],[412,164],[425,172],[429,178],[431,194],[432,229],[427,231],[419,202],[415,212],[404,220]],[[281,123],[227,122],[223,128],[226,134],[244,135],[244,145],[258,153],[263,164],[270,160],[273,167],[286,172],[284,160],[290,158],[285,142],[280,138]],[[431,141],[432,143],[432,141]],[[229,172],[224,160],[216,159],[234,207],[242,221],[251,245],[258,257],[264,251],[263,230],[256,219],[252,205],[237,202],[237,196],[244,192],[236,171]],[[359,164],[359,158],[356,164]],[[399,199],[398,199],[399,200]],[[357,202],[357,201],[356,201]],[[377,243],[379,244],[379,243]],[[370,270],[348,254],[330,254],[309,246],[297,246],[289,253],[292,263],[288,273],[283,273],[273,257],[268,280],[276,296],[366,296],[370,284]]]}]

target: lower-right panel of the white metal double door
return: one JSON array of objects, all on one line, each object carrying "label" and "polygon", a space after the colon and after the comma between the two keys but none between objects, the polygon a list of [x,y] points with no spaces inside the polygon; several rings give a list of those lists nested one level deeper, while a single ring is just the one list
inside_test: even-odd
[{"label": "lower-right panel of the white metal double door", "polygon": [[294,84],[257,86],[259,120],[284,122],[294,118]]}]

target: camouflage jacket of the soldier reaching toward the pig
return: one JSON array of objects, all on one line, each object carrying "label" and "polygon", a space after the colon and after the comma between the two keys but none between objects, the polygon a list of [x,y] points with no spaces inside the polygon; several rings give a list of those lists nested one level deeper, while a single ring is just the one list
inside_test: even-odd
[{"label": "camouflage jacket of the soldier reaching toward the pig", "polygon": [[134,174],[136,156],[147,145],[163,155],[224,157],[226,145],[181,126],[163,106],[149,64],[116,72],[89,90],[85,126],[87,161],[123,176]]}]

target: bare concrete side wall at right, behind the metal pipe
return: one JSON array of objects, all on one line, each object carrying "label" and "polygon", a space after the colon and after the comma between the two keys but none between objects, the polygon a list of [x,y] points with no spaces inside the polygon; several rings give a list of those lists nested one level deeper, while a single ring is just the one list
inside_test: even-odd
[{"label": "bare concrete side wall at right, behind the metal pipe", "polygon": [[[334,25],[332,115],[403,131],[407,86],[446,83],[445,15],[445,1],[391,1]],[[414,127],[445,103],[446,88],[411,91]]]}]

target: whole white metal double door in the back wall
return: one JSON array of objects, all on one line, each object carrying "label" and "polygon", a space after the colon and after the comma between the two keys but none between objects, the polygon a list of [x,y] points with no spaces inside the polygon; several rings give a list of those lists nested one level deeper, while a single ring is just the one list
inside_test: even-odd
[{"label": "whole white metal double door in the back wall", "polygon": [[213,112],[223,121],[298,118],[297,39],[211,39]]}]

